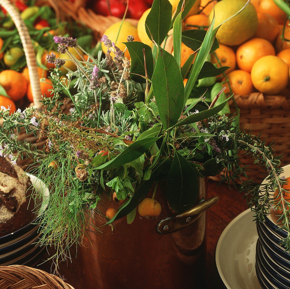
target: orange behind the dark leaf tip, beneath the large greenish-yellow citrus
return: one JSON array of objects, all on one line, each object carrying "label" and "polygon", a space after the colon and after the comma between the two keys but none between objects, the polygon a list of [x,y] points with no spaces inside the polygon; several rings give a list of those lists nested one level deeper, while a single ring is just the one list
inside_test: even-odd
[{"label": "orange behind the dark leaf tip, beneath the large greenish-yellow citrus", "polygon": [[[226,70],[226,73],[229,73],[235,69],[236,66],[236,59],[235,59],[235,53],[232,48],[229,46],[220,44],[220,47],[215,50],[215,54],[220,59],[220,63],[218,66],[229,66]],[[215,58],[215,55],[211,55],[211,62],[217,63],[218,60]]]}]

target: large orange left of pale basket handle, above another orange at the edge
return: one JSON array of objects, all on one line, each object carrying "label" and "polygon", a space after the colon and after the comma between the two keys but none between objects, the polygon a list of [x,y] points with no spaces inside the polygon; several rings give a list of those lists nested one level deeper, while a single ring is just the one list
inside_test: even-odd
[{"label": "large orange left of pale basket handle, above another orange at the edge", "polygon": [[27,91],[25,77],[15,70],[3,70],[0,73],[0,84],[13,101],[20,100]]}]

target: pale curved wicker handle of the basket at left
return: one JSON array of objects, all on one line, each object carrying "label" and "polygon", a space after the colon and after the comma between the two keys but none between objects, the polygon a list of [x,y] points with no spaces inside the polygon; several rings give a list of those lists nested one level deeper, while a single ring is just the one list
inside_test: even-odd
[{"label": "pale curved wicker handle of the basket at left", "polygon": [[35,51],[33,48],[33,44],[32,44],[28,29],[23,19],[20,17],[19,12],[15,9],[15,7],[12,5],[12,3],[9,0],[0,0],[0,5],[3,6],[3,8],[9,13],[11,19],[13,20],[18,30],[18,33],[19,33],[19,36],[23,45],[24,54],[26,57],[33,103],[34,103],[34,106],[37,109],[39,109],[41,107],[41,102],[40,102],[41,89],[40,89],[39,76],[38,76],[38,71],[37,71]]}]

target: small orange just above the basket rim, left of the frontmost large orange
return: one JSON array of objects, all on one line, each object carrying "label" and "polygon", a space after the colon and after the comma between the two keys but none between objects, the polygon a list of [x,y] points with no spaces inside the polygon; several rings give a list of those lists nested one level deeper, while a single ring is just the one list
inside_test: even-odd
[{"label": "small orange just above the basket rim, left of the frontmost large orange", "polygon": [[[233,93],[238,95],[248,95],[254,91],[254,87],[251,81],[251,74],[244,70],[234,70],[227,75],[229,83]],[[222,82],[225,82],[226,79],[223,78]],[[226,82],[225,93],[229,93],[229,84]]]}]

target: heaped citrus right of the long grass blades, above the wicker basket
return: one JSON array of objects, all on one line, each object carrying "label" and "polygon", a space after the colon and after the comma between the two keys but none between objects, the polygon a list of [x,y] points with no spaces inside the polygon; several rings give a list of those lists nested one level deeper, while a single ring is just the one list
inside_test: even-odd
[{"label": "heaped citrus right of the long grass blades, above the wicker basket", "polygon": [[[218,2],[215,5],[215,26],[237,12],[245,2]],[[209,19],[212,17],[213,11]],[[290,24],[286,20],[286,14],[273,0],[252,0],[238,16],[221,26],[217,34],[220,48],[212,55],[212,62],[230,66],[222,82],[229,81],[233,93],[247,95],[260,91],[290,95],[287,88]],[[283,30],[284,41],[281,38]]]}]

